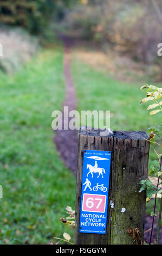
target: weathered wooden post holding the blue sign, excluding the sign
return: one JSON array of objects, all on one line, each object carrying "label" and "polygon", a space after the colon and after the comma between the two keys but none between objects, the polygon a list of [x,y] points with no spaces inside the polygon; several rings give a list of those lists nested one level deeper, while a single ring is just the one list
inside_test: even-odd
[{"label": "weathered wooden post holding the blue sign, excluding the sign", "polygon": [[[147,179],[148,136],[140,131],[114,131],[113,135],[100,136],[100,130],[80,130],[78,142],[76,180],[76,225],[75,244],[106,245],[132,244],[126,233],[129,228],[138,228],[144,239],[146,192],[139,193],[140,180]],[[107,231],[105,234],[79,233],[83,150],[112,151],[109,185]],[[111,208],[110,201],[114,203]],[[121,209],[125,208],[125,212]]]}]

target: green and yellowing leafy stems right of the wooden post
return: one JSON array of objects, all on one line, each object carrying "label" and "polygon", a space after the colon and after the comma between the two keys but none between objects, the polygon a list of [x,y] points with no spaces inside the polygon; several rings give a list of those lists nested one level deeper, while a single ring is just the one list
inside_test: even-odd
[{"label": "green and yellowing leafy stems right of the wooden post", "polygon": [[[148,88],[147,93],[146,93],[147,97],[142,99],[140,103],[145,103],[145,102],[154,100],[155,103],[149,105],[147,107],[147,110],[154,109],[154,108],[158,108],[158,109],[151,111],[150,115],[162,112],[162,107],[161,107],[162,101],[160,101],[160,98],[162,97],[162,88],[155,87],[152,85],[148,86],[148,84],[146,84],[145,86],[141,87],[141,90],[146,89],[146,88]],[[155,136],[157,136],[160,139],[160,141],[162,142],[161,127],[162,127],[162,125],[160,124],[158,126],[158,128],[156,128],[155,126],[148,128],[148,131],[150,132],[149,141],[151,143],[156,143],[160,148],[162,147],[161,144],[154,142],[152,140],[155,138]],[[146,189],[146,194],[147,194],[146,202],[149,202],[150,199],[153,197],[155,198],[154,209],[153,209],[153,212],[151,212],[151,216],[153,216],[153,219],[152,219],[152,227],[151,227],[151,235],[150,235],[150,244],[151,244],[151,240],[152,240],[154,218],[156,217],[155,210],[156,210],[157,197],[161,198],[159,217],[158,217],[157,244],[159,243],[160,221],[161,221],[161,211],[162,211],[162,195],[161,195],[162,189],[159,188],[159,184],[162,184],[162,182],[160,181],[160,176],[162,174],[162,172],[161,172],[162,154],[158,154],[156,150],[154,150],[154,151],[157,154],[158,160],[152,161],[151,170],[149,172],[150,179],[140,181],[140,184],[142,185],[142,187],[140,188],[140,191],[139,191],[139,192],[142,192]],[[153,176],[154,179],[157,179],[156,186],[152,183],[151,179],[153,179],[153,178],[151,178],[151,176]]]}]

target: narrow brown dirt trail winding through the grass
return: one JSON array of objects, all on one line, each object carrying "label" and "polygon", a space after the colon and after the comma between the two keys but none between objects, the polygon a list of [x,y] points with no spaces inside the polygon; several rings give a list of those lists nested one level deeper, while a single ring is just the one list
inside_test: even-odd
[{"label": "narrow brown dirt trail winding through the grass", "polygon": [[[74,82],[72,79],[71,66],[71,47],[74,45],[74,40],[62,35],[54,29],[55,33],[63,41],[64,50],[64,77],[66,82],[66,99],[63,102],[63,107],[68,106],[69,112],[76,109],[76,94]],[[63,114],[63,113],[62,113]],[[70,118],[68,119],[70,121]],[[64,118],[63,118],[64,125]],[[64,164],[72,170],[76,176],[77,168],[77,131],[76,130],[56,130],[54,137],[57,151]]]}]

